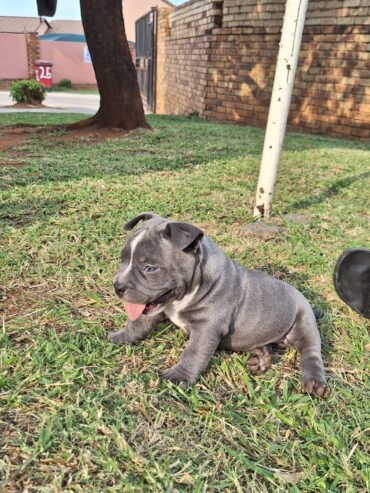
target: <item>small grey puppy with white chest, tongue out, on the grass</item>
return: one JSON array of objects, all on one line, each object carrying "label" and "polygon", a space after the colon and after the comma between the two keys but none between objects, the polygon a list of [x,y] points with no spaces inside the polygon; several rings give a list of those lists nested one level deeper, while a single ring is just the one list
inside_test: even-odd
[{"label": "small grey puppy with white chest, tongue out, on the grass", "polygon": [[193,384],[217,348],[249,351],[249,367],[271,365],[270,347],[298,349],[303,389],[329,395],[314,312],[293,286],[248,270],[226,257],[196,226],[143,212],[125,225],[143,221],[123,247],[114,280],[129,322],[109,334],[118,344],[144,339],[162,315],[185,330],[189,342],[180,361],[163,377]]}]

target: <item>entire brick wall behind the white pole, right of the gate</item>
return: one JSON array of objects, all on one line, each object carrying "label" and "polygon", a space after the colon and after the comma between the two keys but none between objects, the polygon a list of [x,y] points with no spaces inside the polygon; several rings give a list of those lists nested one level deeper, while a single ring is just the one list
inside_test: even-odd
[{"label": "entire brick wall behind the white pole, right of the gate", "polygon": [[[159,10],[157,112],[266,124],[285,0]],[[370,138],[370,0],[311,0],[289,126]]]}]

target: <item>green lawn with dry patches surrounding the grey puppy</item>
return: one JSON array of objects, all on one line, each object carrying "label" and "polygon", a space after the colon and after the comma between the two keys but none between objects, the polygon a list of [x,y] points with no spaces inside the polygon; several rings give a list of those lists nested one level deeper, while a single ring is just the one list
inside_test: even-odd
[{"label": "green lawn with dry patches surrounding the grey puppy", "polygon": [[[0,125],[78,118],[1,114]],[[0,167],[0,490],[369,491],[368,324],[332,271],[343,249],[370,246],[370,147],[288,135],[272,220],[285,231],[261,243],[244,225],[263,132],[149,119],[153,132],[96,144],[39,134],[2,153],[24,166]],[[300,393],[294,351],[258,377],[247,354],[218,352],[184,390],[159,378],[186,342],[170,324],[135,347],[107,342],[126,320],[112,290],[122,225],[142,210],[196,223],[324,309],[328,401]]]}]

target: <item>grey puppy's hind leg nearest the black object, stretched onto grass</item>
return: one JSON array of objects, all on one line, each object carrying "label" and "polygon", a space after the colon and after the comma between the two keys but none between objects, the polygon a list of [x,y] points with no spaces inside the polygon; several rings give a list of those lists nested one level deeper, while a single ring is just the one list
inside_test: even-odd
[{"label": "grey puppy's hind leg nearest the black object, stretched onto grass", "polygon": [[330,389],[324,375],[320,334],[309,305],[298,311],[296,320],[282,343],[298,349],[300,353],[303,390],[322,398],[328,397]]}]

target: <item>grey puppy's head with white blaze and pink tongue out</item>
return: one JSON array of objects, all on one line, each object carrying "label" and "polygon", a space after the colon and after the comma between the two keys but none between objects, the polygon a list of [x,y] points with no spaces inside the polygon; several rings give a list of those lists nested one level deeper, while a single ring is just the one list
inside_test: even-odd
[{"label": "grey puppy's head with white blaze and pink tongue out", "polygon": [[159,313],[190,289],[203,237],[192,224],[146,212],[131,219],[125,229],[131,230],[140,221],[122,249],[114,280],[132,320],[142,313]]}]

